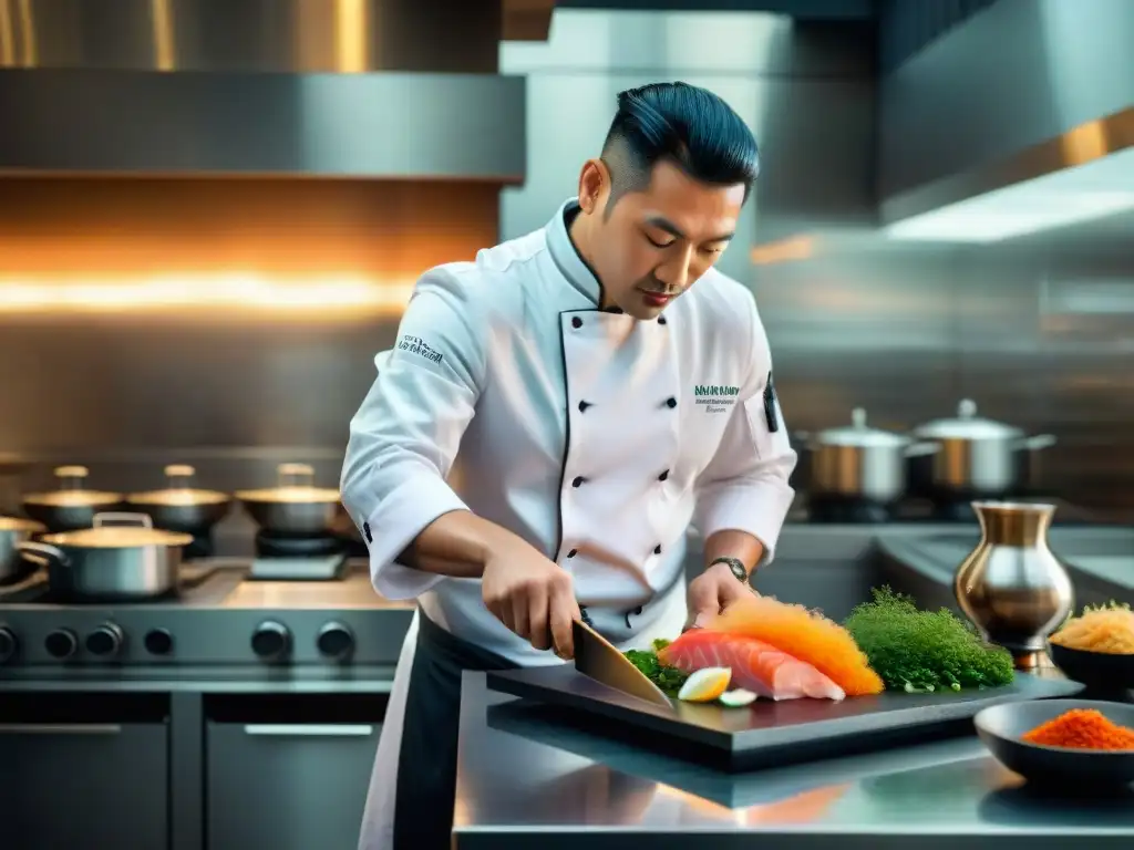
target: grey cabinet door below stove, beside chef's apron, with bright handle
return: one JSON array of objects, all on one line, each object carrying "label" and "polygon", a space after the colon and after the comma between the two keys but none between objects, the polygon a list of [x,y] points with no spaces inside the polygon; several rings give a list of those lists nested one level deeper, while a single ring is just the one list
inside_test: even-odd
[{"label": "grey cabinet door below stove, beside chef's apron, with bright handle", "polygon": [[324,697],[315,716],[210,720],[209,850],[355,850],[381,715]]}]

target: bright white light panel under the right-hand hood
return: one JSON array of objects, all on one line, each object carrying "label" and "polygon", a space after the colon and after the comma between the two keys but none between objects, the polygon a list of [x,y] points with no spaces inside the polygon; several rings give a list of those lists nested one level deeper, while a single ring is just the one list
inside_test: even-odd
[{"label": "bright white light panel under the right-hand hood", "polygon": [[1134,148],[887,224],[890,239],[996,243],[1134,210]]}]

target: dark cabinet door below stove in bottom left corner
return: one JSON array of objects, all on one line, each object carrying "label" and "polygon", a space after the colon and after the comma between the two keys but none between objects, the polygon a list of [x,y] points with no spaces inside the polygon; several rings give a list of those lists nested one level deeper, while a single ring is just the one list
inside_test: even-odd
[{"label": "dark cabinet door below stove in bottom left corner", "polygon": [[167,753],[163,723],[0,722],[0,845],[166,850]]}]

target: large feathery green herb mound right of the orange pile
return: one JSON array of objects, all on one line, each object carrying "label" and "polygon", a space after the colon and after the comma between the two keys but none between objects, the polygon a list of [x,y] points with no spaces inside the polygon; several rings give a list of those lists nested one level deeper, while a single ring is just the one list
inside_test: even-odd
[{"label": "large feathery green herb mound right of the orange pile", "polygon": [[1012,655],[985,644],[948,609],[919,611],[889,587],[856,606],[844,626],[886,687],[906,692],[993,688],[1013,681]]}]

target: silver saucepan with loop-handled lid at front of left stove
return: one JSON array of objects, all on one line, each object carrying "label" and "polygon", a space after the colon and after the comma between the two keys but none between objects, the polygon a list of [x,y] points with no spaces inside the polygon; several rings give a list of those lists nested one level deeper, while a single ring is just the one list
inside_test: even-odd
[{"label": "silver saucepan with loop-handled lid at front of left stove", "polygon": [[17,549],[48,567],[51,589],[69,597],[139,600],[176,593],[187,534],[162,532],[145,513],[98,513],[91,528],[49,534]]}]

